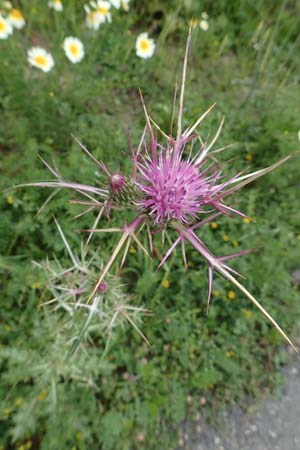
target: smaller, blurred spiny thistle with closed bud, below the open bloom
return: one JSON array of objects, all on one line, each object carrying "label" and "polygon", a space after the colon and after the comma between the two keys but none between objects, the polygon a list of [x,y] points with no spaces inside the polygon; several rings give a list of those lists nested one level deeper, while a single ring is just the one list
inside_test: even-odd
[{"label": "smaller, blurred spiny thistle with closed bud, below the open bloom", "polygon": [[77,256],[72,251],[59,223],[54,220],[71,264],[63,267],[57,259],[50,261],[48,258],[34,264],[45,272],[46,287],[52,294],[52,298],[40,306],[48,305],[54,311],[67,312],[71,319],[68,326],[75,330],[67,357],[74,354],[84,340],[91,339],[90,335],[94,331],[97,335],[101,331],[107,337],[105,347],[107,349],[112,331],[116,326],[122,326],[124,322],[132,325],[148,342],[137,323],[140,316],[148,314],[149,311],[130,303],[120,277],[109,274],[106,281],[98,286],[92,303],[90,305],[85,303],[87,293],[97,280],[97,273],[103,268],[99,251],[94,251],[89,257],[88,253],[91,251],[87,252],[82,245],[80,257]]}]

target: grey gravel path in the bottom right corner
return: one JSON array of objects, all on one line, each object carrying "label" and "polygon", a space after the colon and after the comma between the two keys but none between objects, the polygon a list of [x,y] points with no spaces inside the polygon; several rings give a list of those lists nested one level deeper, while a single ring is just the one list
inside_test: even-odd
[{"label": "grey gravel path in the bottom right corner", "polygon": [[186,424],[179,449],[300,450],[300,357],[283,369],[285,384],[278,399],[266,399],[252,415],[234,409],[218,428],[203,420]]}]

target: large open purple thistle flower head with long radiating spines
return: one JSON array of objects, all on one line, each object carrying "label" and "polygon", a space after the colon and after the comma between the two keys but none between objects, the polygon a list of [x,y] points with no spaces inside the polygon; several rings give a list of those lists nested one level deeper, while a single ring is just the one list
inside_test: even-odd
[{"label": "large open purple thistle flower head with long radiating spines", "polygon": [[[248,174],[240,172],[226,178],[226,174],[222,172],[216,158],[218,153],[227,147],[214,149],[224,120],[221,121],[211,142],[204,142],[197,131],[201,122],[215,105],[212,105],[187,129],[182,129],[190,40],[191,30],[183,63],[178,100],[177,130],[174,136],[172,131],[171,134],[165,133],[149,116],[141,94],[146,125],[137,148],[134,149],[129,142],[132,160],[132,172],[130,175],[110,171],[102,161],[98,161],[75,138],[82,150],[94,161],[104,175],[105,182],[103,185],[95,187],[64,180],[56,167],[53,168],[44,161],[46,167],[54,176],[54,180],[31,183],[30,186],[55,188],[54,193],[62,188],[71,189],[82,197],[82,199],[75,199],[73,202],[86,206],[82,214],[97,211],[96,219],[91,228],[84,230],[88,233],[84,247],[85,251],[91,245],[94,233],[120,234],[120,239],[110,258],[101,269],[93,288],[89,292],[87,289],[84,291],[85,307],[88,308],[94,305],[99,289],[105,283],[107,277],[110,276],[113,264],[118,262],[119,267],[123,267],[131,243],[134,242],[147,257],[151,258],[153,254],[153,235],[160,233],[164,241],[166,231],[172,230],[175,238],[165,251],[157,269],[162,267],[175,248],[180,246],[183,264],[187,270],[188,262],[185,247],[187,244],[192,246],[204,259],[208,268],[207,311],[210,304],[213,275],[215,272],[218,272],[238,288],[261,311],[293,349],[297,351],[277,322],[240,283],[238,277],[241,277],[241,275],[228,264],[230,260],[245,255],[254,249],[245,249],[224,256],[216,256],[202,241],[201,234],[199,236],[201,227],[218,216],[232,217],[238,215],[246,217],[243,212],[230,206],[227,203],[227,199],[232,199],[233,195],[243,186],[283,164],[291,155],[261,170]],[[175,104],[176,94],[174,98]],[[173,126],[171,126],[171,130],[172,128]],[[109,218],[112,209],[131,210],[134,212],[135,217],[130,223],[122,223],[122,225],[118,224],[118,226],[110,228],[98,228],[100,220]],[[144,239],[140,237],[142,233],[146,235],[147,245],[143,243]]]}]

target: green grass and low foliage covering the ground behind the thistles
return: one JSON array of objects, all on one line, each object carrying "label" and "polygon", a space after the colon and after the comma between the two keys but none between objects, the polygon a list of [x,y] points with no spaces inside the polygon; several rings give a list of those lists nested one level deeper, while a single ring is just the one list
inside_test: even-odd
[{"label": "green grass and low foliage covering the ground behind the thistles", "polygon": [[[110,168],[127,169],[128,132],[136,145],[144,127],[138,87],[151,115],[167,130],[188,22],[203,10],[210,28],[197,27],[193,34],[185,125],[217,102],[202,134],[212,135],[226,116],[219,144],[236,143],[222,156],[230,160],[228,173],[262,168],[299,150],[298,4],[132,2],[129,13],[113,11],[112,24],[92,32],[79,2],[65,1],[62,14],[42,2],[19,3],[27,25],[1,41],[0,189],[47,179],[38,155],[54,158],[68,179],[96,183],[95,166],[71,133]],[[135,56],[134,42],[145,30],[157,48],[143,61]],[[68,35],[85,44],[86,57],[78,65],[60,48]],[[26,61],[27,49],[37,43],[54,56],[56,65],[48,74]],[[202,231],[218,254],[258,248],[236,267],[247,275],[247,288],[294,338],[300,319],[299,287],[292,282],[300,253],[298,163],[295,155],[236,197],[255,223],[222,219],[215,230]],[[64,314],[39,307],[50,294],[44,274],[31,261],[55,254],[68,264],[53,214],[75,249],[76,230],[91,226],[93,218],[72,221],[79,210],[63,192],[36,217],[47,195],[27,188],[0,197],[3,449],[25,450],[29,442],[41,450],[171,449],[185,417],[200,410],[212,419],[224,405],[243,405],[278,386],[280,365],[287,360],[280,336],[238,292],[230,300],[232,287],[218,276],[206,316],[206,270],[191,249],[188,274],[179,253],[158,273],[157,261],[146,260],[139,250],[129,256],[124,290],[132,304],[153,312],[139,325],[150,346],[125,323],[112,334],[105,354],[105,336],[95,330],[97,345],[87,342],[87,352],[79,351],[66,364],[73,330]],[[97,238],[95,249],[98,245],[106,259],[113,242]],[[159,243],[157,249],[162,251]]]}]

